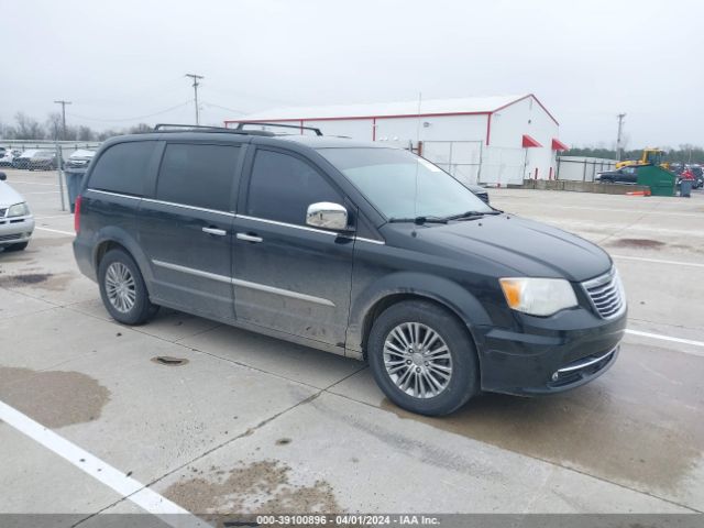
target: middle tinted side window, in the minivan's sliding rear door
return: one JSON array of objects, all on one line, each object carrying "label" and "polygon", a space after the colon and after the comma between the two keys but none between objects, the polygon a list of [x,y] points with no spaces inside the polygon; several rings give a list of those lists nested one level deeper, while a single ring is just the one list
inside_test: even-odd
[{"label": "middle tinted side window, in the minivan's sliding rear door", "polygon": [[230,191],[239,155],[239,146],[166,145],[156,184],[156,199],[230,210]]}]

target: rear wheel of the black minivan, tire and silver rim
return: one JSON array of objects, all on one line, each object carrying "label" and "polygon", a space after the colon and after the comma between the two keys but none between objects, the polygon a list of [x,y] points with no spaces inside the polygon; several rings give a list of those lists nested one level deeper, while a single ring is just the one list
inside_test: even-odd
[{"label": "rear wheel of the black minivan, tire and silver rim", "polygon": [[123,324],[143,324],[158,310],[150,301],[142,273],[123,250],[110,250],[98,266],[100,297],[112,318]]}]

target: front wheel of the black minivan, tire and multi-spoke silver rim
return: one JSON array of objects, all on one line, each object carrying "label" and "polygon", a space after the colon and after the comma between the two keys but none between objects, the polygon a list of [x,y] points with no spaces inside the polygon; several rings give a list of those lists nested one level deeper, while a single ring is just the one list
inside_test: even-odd
[{"label": "front wheel of the black minivan, tire and multi-spoke silver rim", "polygon": [[[417,348],[408,354],[413,332]],[[386,397],[411,413],[448,415],[480,388],[476,351],[466,329],[453,314],[429,301],[402,301],[384,310],[372,326],[367,360]]]}]

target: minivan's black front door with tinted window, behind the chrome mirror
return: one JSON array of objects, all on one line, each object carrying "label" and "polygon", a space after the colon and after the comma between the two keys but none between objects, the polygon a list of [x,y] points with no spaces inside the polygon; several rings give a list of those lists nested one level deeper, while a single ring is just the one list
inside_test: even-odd
[{"label": "minivan's black front door with tinted window, behind the chrome mirror", "polygon": [[240,321],[343,346],[353,240],[306,226],[314,202],[344,197],[308,161],[257,148],[233,228]]}]

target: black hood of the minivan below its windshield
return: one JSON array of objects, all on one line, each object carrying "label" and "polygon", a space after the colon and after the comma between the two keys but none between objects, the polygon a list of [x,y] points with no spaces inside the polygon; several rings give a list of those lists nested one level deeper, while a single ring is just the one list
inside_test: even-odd
[{"label": "black hood of the minivan below its windshield", "polygon": [[417,239],[437,246],[466,253],[514,270],[517,276],[566,278],[582,282],[612,267],[608,254],[574,234],[513,215],[448,224],[426,224]]}]

